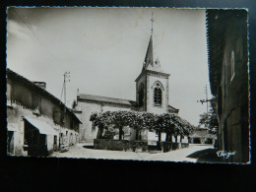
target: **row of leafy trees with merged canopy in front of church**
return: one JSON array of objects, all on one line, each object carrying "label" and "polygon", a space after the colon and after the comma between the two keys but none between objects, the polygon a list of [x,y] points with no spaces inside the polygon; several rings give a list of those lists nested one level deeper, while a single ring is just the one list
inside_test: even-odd
[{"label": "row of leafy trees with merged canopy in front of church", "polygon": [[[174,114],[153,114],[149,112],[138,111],[106,111],[102,113],[93,113],[90,118],[98,126],[97,138],[112,138],[113,131],[109,131],[109,125],[113,125],[114,129],[119,131],[119,140],[124,138],[123,128],[129,126],[135,130],[136,140],[141,140],[141,132],[143,130],[156,131],[159,134],[159,142],[161,141],[161,133],[166,133],[165,142],[172,142],[172,135],[177,143],[177,135],[181,136],[190,134],[194,126],[188,121]],[[102,136],[103,129],[106,130],[106,136]]]}]

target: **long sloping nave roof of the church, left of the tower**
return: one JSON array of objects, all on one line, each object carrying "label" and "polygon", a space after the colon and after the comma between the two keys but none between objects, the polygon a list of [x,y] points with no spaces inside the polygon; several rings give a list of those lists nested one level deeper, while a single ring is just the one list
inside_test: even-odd
[{"label": "long sloping nave roof of the church, left of the tower", "polygon": [[107,96],[95,96],[95,95],[84,95],[80,94],[78,96],[78,99],[81,100],[93,100],[93,101],[99,101],[99,102],[110,102],[115,104],[125,104],[125,105],[134,105],[136,103],[133,100],[129,99],[123,99],[123,98],[114,98],[114,97],[107,97]]}]

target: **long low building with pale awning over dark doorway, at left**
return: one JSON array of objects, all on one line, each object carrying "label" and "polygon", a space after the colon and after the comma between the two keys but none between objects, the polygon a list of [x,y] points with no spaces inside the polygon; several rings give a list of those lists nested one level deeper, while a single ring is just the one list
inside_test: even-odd
[{"label": "long low building with pale awning over dark doorway, at left", "polygon": [[7,152],[48,156],[78,142],[78,117],[43,82],[32,82],[7,69]]}]

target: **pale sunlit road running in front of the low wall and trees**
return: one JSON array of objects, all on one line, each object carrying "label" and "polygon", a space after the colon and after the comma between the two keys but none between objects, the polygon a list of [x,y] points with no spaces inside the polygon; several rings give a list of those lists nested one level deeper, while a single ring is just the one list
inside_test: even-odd
[{"label": "pale sunlit road running in front of the low wall and trees", "polygon": [[168,153],[135,153],[135,152],[120,152],[120,151],[106,151],[94,150],[84,148],[88,144],[77,144],[65,153],[53,153],[51,157],[57,158],[83,158],[83,159],[108,159],[108,160],[164,160],[164,161],[191,161],[196,159],[186,158],[187,156],[202,150],[213,149],[212,145],[196,145],[190,144],[189,148],[184,148]]}]

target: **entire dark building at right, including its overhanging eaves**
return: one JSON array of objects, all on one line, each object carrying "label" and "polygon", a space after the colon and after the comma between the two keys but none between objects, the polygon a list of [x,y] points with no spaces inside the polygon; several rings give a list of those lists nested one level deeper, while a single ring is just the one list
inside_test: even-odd
[{"label": "entire dark building at right, including its overhanging eaves", "polygon": [[235,152],[230,162],[249,160],[247,12],[208,10],[211,92],[217,97],[218,148]]}]

